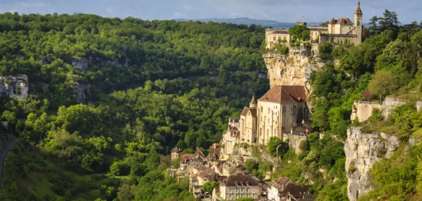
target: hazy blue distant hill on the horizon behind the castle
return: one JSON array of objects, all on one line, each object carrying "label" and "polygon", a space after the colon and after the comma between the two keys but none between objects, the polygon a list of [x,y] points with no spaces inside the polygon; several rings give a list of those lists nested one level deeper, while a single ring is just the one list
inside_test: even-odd
[{"label": "hazy blue distant hill on the horizon behind the castle", "polygon": [[[238,25],[261,25],[262,27],[273,27],[273,28],[290,28],[296,23],[289,22],[277,22],[273,20],[258,20],[250,18],[204,18],[204,19],[175,19],[176,21],[201,21],[201,22],[217,22],[217,23],[233,23]],[[317,26],[321,23],[308,23],[308,26]],[[363,24],[364,27],[369,27],[368,24]]]}]

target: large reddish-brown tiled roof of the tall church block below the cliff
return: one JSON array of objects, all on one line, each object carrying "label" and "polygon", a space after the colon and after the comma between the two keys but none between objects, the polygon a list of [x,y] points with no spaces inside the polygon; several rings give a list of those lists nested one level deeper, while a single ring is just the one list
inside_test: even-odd
[{"label": "large reddish-brown tiled roof of the tall church block below the cliff", "polygon": [[304,86],[273,86],[258,101],[273,103],[305,103]]}]

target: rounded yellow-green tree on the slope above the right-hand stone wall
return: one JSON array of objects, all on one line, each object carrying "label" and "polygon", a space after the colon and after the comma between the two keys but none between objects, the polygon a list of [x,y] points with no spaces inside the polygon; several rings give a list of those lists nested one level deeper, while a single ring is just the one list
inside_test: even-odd
[{"label": "rounded yellow-green tree on the slope above the right-hand stone wall", "polygon": [[384,99],[386,95],[391,94],[396,88],[394,74],[384,69],[376,71],[368,84],[369,91],[378,96],[380,100]]}]

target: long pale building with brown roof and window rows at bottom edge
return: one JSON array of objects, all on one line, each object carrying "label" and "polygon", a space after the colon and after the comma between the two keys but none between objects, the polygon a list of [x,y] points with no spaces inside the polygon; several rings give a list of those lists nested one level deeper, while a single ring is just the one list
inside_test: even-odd
[{"label": "long pale building with brown roof and window rows at bottom edge", "polygon": [[225,178],[218,187],[220,196],[213,193],[213,200],[236,200],[241,197],[260,196],[259,184],[250,176],[232,175]]}]

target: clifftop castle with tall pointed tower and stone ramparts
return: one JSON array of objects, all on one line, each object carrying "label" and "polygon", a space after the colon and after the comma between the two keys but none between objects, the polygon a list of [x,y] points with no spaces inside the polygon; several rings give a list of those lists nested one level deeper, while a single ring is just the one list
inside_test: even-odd
[{"label": "clifftop castle with tall pointed tower and stone ramparts", "polygon": [[[354,13],[354,21],[349,18],[339,18],[335,20],[332,18],[327,27],[310,26],[310,39],[312,43],[325,43],[334,38],[334,42],[349,41],[350,44],[358,45],[362,42],[362,10],[360,2]],[[306,26],[306,23],[297,23]],[[265,41],[267,48],[271,44],[278,44],[281,41],[290,43],[292,41],[289,31],[287,29],[266,29]]]}]

